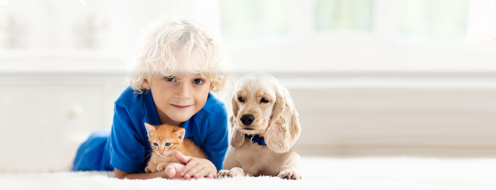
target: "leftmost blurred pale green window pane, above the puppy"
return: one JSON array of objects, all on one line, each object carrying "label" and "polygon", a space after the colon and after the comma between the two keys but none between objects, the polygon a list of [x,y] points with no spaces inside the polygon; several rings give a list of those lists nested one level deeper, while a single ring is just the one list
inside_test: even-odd
[{"label": "leftmost blurred pale green window pane, above the puppy", "polygon": [[223,36],[239,40],[289,34],[290,5],[287,0],[220,0]]}]

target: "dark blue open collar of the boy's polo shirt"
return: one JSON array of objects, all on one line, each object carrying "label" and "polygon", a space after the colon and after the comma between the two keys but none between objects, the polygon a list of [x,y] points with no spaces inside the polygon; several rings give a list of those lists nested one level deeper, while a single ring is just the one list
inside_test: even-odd
[{"label": "dark blue open collar of the boy's polo shirt", "polygon": [[[150,90],[145,89],[142,93],[143,104],[145,106],[145,118],[143,123],[148,123],[154,126],[160,126],[160,119],[158,118],[157,108],[155,107],[155,102],[153,101],[153,96]],[[199,127],[195,120],[195,115],[183,122],[181,127],[186,129],[185,137],[190,137],[199,133]],[[142,124],[144,127],[144,124]]]}]

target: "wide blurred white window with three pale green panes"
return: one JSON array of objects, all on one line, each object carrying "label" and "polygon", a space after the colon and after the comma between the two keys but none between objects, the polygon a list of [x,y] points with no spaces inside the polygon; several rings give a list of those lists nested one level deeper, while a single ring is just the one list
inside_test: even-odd
[{"label": "wide blurred white window with three pale green panes", "polygon": [[[294,18],[305,17],[303,9],[311,7],[313,16],[306,21],[314,23],[314,30],[308,32],[362,31],[442,41],[466,38],[469,0],[305,0],[293,2],[294,8],[291,2],[220,0],[223,36],[246,40],[287,35],[298,30],[292,28]],[[302,3],[310,6],[299,7]]]}]

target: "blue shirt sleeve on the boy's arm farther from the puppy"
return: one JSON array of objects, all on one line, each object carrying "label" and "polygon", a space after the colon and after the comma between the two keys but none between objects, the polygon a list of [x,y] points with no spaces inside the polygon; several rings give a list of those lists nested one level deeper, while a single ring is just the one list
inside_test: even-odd
[{"label": "blue shirt sleeve on the boy's arm farther from the puppy", "polygon": [[124,172],[139,173],[145,152],[140,139],[127,109],[116,103],[110,134],[110,164]]}]

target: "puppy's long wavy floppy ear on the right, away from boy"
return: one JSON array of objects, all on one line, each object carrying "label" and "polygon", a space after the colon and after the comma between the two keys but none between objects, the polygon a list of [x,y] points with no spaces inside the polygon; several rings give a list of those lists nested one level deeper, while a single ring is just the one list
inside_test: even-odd
[{"label": "puppy's long wavy floppy ear on the right, away from boy", "polygon": [[300,121],[293,100],[286,88],[275,86],[276,102],[264,135],[267,147],[274,152],[287,152],[300,137]]}]

